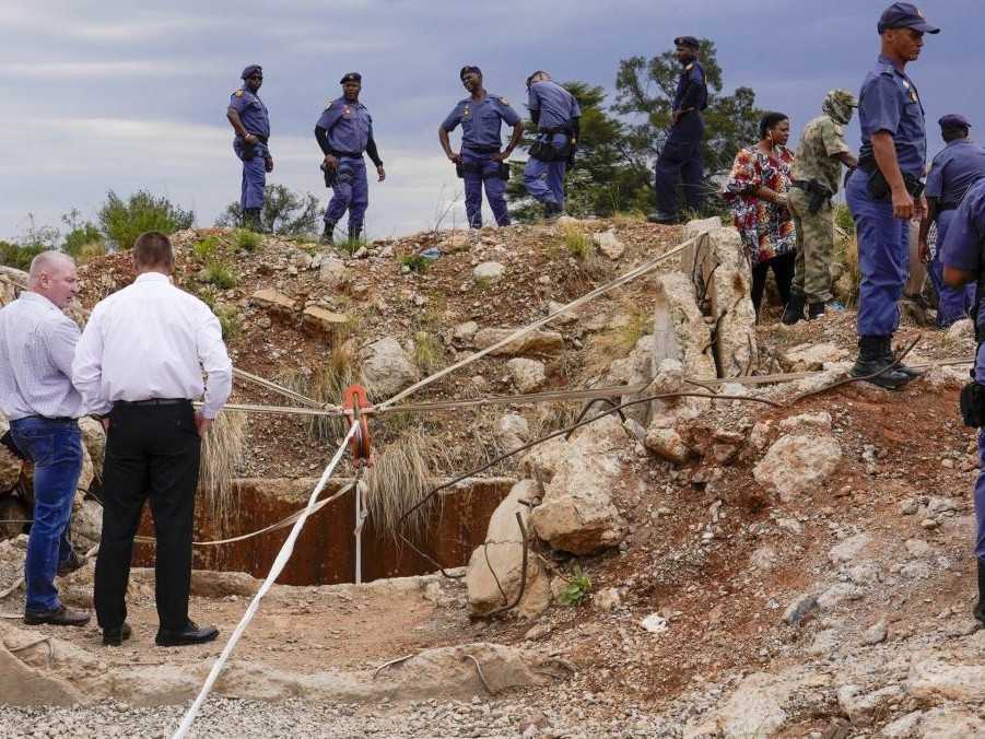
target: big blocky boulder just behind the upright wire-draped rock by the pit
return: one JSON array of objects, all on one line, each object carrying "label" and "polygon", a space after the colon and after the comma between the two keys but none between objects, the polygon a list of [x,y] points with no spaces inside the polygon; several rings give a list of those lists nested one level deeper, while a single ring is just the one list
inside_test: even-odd
[{"label": "big blocky boulder just behind the upright wire-draped rock by the pit", "polygon": [[524,458],[527,473],[544,485],[543,502],[530,520],[537,536],[554,549],[593,554],[625,536],[625,523],[611,491],[625,470],[618,450],[630,444],[614,415],[541,444]]}]

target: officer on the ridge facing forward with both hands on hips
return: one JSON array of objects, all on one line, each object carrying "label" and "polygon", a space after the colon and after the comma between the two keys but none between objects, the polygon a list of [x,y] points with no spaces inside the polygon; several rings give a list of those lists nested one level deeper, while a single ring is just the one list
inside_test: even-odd
[{"label": "officer on the ridge facing forward with both hands on hips", "polygon": [[[445,155],[455,164],[458,176],[465,180],[465,210],[469,227],[482,227],[482,185],[489,207],[501,226],[509,225],[506,209],[506,180],[509,165],[506,160],[524,136],[524,122],[505,97],[490,95],[482,86],[482,70],[462,67],[458,73],[470,97],[459,101],[437,130]],[[461,125],[461,151],[452,151],[448,133]],[[502,149],[500,129],[513,126],[513,137]]]}]

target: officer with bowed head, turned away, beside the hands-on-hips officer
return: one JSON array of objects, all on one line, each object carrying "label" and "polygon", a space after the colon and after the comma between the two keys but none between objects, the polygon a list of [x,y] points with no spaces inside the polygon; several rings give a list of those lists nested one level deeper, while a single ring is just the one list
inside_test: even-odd
[{"label": "officer with bowed head, turned away, beside the hands-on-hips officer", "polygon": [[544,71],[527,78],[527,107],[537,125],[537,138],[524,167],[524,185],[543,204],[548,220],[564,211],[564,173],[574,162],[582,108],[575,96]]}]

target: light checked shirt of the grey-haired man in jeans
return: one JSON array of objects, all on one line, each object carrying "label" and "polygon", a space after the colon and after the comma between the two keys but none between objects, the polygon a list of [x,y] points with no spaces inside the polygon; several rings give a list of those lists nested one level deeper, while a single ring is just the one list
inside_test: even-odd
[{"label": "light checked shirt of the grey-haired man in jeans", "polygon": [[79,327],[44,295],[24,291],[0,310],[0,410],[11,421],[83,414],[72,387]]}]

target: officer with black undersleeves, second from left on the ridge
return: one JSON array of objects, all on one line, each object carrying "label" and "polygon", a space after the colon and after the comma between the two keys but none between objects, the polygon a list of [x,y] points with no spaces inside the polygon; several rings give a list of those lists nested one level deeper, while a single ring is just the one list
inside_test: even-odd
[{"label": "officer with black undersleeves, second from left on the ridge", "polygon": [[373,118],[366,106],[359,102],[363,78],[349,72],[341,80],[342,96],[331,101],[315,125],[315,139],[325,160],[321,171],[325,184],[332,188],[332,198],[325,210],[323,244],[331,244],[336,224],[349,211],[349,241],[359,239],[363,219],[370,206],[370,185],[366,181],[366,163],[363,152],[376,165],[378,181],[386,179],[383,160],[373,140]]}]

